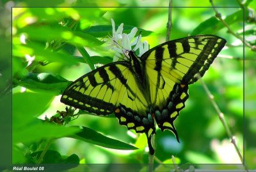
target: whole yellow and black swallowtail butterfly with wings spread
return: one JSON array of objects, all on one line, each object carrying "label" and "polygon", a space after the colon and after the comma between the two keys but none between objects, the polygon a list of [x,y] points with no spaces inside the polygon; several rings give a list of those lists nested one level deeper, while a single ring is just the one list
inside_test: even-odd
[{"label": "whole yellow and black swallowtail butterfly with wings spread", "polygon": [[71,83],[61,102],[95,113],[115,113],[121,125],[145,133],[150,154],[156,124],[172,131],[188,99],[188,85],[204,75],[226,40],[214,35],[167,41],[141,57],[128,52],[128,61],[106,64]]}]

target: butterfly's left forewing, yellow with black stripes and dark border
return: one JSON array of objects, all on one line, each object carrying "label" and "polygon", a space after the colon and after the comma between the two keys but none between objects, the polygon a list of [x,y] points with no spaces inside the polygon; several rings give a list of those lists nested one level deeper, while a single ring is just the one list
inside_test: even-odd
[{"label": "butterfly's left forewing, yellow with black stripes and dark border", "polygon": [[65,90],[61,102],[97,115],[113,113],[119,103],[145,113],[147,101],[137,87],[129,64],[115,62],[78,78]]}]

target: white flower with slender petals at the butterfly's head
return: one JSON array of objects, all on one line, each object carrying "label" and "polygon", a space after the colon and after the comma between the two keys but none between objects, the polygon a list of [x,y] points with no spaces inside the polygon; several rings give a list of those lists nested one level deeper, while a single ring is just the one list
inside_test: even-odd
[{"label": "white flower with slender petals at the butterfly's head", "polygon": [[[129,34],[122,33],[124,31],[124,24],[120,24],[118,29],[115,31],[115,22],[111,18],[112,24],[112,31],[113,36],[104,39],[106,44],[108,45],[106,48],[111,49],[116,52],[115,56],[113,57],[113,62],[118,61],[119,59],[127,59],[125,56],[126,51],[136,51],[139,49],[140,54],[139,57],[147,52],[148,50],[148,43],[147,41],[141,42],[141,35],[134,38],[138,29],[136,27],[132,28]],[[134,47],[135,45],[135,47]],[[132,48],[134,47],[134,48]]]}]

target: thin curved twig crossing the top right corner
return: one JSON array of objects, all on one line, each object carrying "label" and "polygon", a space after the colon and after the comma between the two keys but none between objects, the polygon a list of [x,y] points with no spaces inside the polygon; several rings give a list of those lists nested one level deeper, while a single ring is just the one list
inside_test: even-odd
[{"label": "thin curved twig crossing the top right corner", "polygon": [[228,32],[230,32],[232,35],[234,35],[237,39],[240,39],[245,45],[247,45],[248,47],[250,47],[253,51],[256,51],[256,47],[250,45],[250,43],[248,43],[247,41],[244,40],[244,38],[242,38],[241,36],[239,36],[239,34],[236,34],[234,31],[232,31],[232,29],[229,27],[229,25],[225,22],[225,20],[223,20],[221,18],[221,13],[219,13],[219,11],[216,9],[216,7],[214,6],[212,0],[209,0],[210,3],[212,4],[212,8],[216,13],[216,17],[220,20],[220,22],[225,25],[225,27],[227,27]]}]

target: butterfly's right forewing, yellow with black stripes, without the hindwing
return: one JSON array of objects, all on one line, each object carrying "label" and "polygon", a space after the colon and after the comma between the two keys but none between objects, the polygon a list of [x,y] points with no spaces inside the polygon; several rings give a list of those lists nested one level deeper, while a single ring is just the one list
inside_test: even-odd
[{"label": "butterfly's right forewing, yellow with black stripes, without the hindwing", "polygon": [[190,36],[168,41],[141,56],[145,68],[155,69],[175,83],[196,82],[209,69],[226,41],[213,35]]}]

